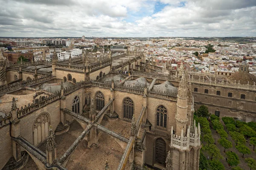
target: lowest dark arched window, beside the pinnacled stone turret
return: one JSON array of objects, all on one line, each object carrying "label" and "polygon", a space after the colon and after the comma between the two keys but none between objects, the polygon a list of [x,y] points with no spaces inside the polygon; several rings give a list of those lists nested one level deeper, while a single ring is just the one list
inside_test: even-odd
[{"label": "lowest dark arched window, beside the pinnacled stone turret", "polygon": [[155,142],[155,164],[166,165],[166,142],[157,138]]}]

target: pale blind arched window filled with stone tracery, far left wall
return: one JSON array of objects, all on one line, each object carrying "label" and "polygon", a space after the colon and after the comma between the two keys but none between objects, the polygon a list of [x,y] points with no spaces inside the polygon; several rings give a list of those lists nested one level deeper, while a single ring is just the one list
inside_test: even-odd
[{"label": "pale blind arched window filled with stone tracery, far left wall", "polygon": [[37,146],[48,136],[49,117],[46,113],[41,113],[34,122],[33,138],[34,145]]}]

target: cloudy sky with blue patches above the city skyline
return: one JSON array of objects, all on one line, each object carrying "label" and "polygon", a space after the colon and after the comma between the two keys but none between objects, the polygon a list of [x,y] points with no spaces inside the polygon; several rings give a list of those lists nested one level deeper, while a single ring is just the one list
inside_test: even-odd
[{"label": "cloudy sky with blue patches above the city skyline", "polygon": [[0,37],[256,36],[256,0],[0,0]]}]

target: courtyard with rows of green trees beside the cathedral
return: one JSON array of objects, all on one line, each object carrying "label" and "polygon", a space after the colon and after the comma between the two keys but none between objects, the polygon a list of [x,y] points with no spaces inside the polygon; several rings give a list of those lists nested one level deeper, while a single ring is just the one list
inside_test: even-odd
[{"label": "courtyard with rows of green trees beside the cathedral", "polygon": [[201,126],[199,170],[256,170],[256,122],[210,114],[206,106],[194,113]]}]

